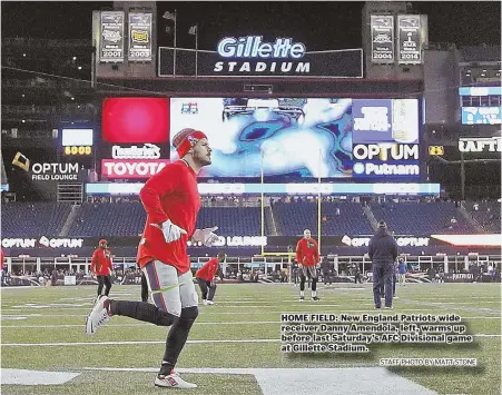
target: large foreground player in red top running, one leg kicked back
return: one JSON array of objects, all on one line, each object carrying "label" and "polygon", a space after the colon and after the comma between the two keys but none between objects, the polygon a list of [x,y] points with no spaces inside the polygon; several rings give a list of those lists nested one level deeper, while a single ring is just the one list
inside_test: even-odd
[{"label": "large foreground player in red top running, one leg kicked back", "polygon": [[197,385],[184,381],[174,367],[198,315],[187,241],[191,239],[209,247],[218,240],[214,234],[217,227],[195,228],[200,208],[197,174],[210,165],[211,149],[206,135],[194,129],[181,130],[173,145],[180,160],[152,176],[139,192],[148,216],[137,261],[146,274],[154,305],[105,296],[89,314],[86,332],[96,333],[114,315],[170,326],[155,385],[195,388]]}]

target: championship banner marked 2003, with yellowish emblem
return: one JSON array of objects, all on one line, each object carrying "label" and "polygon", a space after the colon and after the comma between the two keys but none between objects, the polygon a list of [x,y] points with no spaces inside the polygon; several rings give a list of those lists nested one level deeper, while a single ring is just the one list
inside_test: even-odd
[{"label": "championship banner marked 2003, with yellowish emblem", "polygon": [[129,61],[151,61],[151,13],[129,12]]}]

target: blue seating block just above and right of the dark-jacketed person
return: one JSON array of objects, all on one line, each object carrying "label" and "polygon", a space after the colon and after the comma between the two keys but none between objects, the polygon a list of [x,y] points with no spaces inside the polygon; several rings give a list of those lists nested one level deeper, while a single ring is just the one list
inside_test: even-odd
[{"label": "blue seating block just above and right of the dark-jacketed person", "polygon": [[[385,220],[396,235],[474,234],[475,229],[462,216],[454,203],[372,204],[377,220]],[[456,224],[452,223],[456,220]]]}]

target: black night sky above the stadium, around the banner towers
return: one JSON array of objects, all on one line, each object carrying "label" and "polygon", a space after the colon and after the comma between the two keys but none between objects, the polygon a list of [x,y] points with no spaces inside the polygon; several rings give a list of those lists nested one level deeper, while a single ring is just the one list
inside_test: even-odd
[{"label": "black night sky above the stadium, around the banner towers", "polygon": [[[307,50],[361,48],[361,10],[364,2],[158,2],[158,12],[178,12],[178,47],[194,48],[191,24],[199,26],[199,49],[215,50],[225,36],[292,37]],[[413,2],[414,11],[429,16],[431,42],[457,46],[499,45],[501,3]],[[2,37],[90,38],[92,10],[111,9],[112,2],[2,2]],[[159,46],[171,46],[159,18]]]}]

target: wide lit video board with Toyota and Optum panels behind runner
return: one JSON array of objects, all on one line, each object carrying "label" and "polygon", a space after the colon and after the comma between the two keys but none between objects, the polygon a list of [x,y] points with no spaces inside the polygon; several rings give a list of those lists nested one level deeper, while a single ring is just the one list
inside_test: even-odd
[{"label": "wide lit video board with Toyota and Optum panels behind runner", "polygon": [[177,160],[170,139],[203,130],[206,178],[417,179],[416,99],[109,98],[101,175],[145,179]]}]

